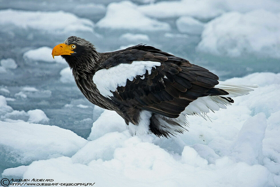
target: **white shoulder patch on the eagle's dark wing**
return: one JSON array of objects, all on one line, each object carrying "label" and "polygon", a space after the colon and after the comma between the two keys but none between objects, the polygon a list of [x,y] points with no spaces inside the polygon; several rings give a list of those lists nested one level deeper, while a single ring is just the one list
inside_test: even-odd
[{"label": "white shoulder patch on the eagle's dark wing", "polygon": [[160,66],[160,62],[133,61],[131,64],[119,64],[108,69],[101,69],[93,75],[93,82],[101,95],[109,98],[113,96],[110,91],[116,91],[118,86],[125,86],[127,79],[132,81],[137,75],[144,75],[146,70]]}]

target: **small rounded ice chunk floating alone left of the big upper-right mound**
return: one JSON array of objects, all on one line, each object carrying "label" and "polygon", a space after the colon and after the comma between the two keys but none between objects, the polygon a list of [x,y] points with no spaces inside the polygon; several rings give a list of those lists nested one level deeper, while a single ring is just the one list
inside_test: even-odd
[{"label": "small rounded ice chunk floating alone left of the big upper-right mound", "polygon": [[189,16],[182,16],[176,21],[178,30],[181,33],[201,34],[204,29],[204,24]]}]

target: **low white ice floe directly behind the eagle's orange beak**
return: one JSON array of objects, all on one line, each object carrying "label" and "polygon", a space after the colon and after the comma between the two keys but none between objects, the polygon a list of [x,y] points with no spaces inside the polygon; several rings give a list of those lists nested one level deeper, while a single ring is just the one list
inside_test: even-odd
[{"label": "low white ice floe directly behind the eagle's orange beak", "polygon": [[32,49],[23,54],[23,58],[31,61],[44,61],[48,63],[66,63],[65,60],[62,59],[61,56],[55,57],[53,59],[51,55],[51,49],[50,47],[40,47],[38,49]]}]

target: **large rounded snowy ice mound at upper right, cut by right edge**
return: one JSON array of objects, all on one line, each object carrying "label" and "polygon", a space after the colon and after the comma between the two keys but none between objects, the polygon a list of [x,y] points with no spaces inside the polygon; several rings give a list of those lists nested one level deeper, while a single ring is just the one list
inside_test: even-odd
[{"label": "large rounded snowy ice mound at upper right, cut by right edge", "polygon": [[225,13],[205,25],[199,51],[237,57],[280,58],[280,15],[265,10]]}]

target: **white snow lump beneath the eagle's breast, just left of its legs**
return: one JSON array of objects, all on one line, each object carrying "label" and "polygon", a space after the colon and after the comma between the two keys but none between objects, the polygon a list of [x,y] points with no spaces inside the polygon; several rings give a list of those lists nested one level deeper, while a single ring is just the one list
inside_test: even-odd
[{"label": "white snow lump beneath the eagle's breast, just left of its legs", "polygon": [[[111,119],[111,120],[108,120]],[[99,118],[93,122],[88,140],[95,140],[108,132],[123,132],[126,130],[125,121],[117,112],[105,110]]]}]

